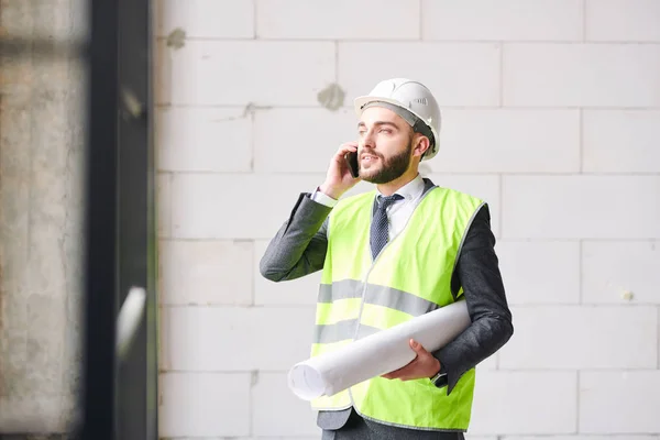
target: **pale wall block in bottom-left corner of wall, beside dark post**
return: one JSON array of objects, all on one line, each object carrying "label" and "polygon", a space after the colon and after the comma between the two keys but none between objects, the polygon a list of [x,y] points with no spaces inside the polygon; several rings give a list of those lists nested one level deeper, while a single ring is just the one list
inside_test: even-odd
[{"label": "pale wall block in bottom-left corner of wall, beside dark post", "polygon": [[161,375],[161,437],[250,436],[251,373]]}]

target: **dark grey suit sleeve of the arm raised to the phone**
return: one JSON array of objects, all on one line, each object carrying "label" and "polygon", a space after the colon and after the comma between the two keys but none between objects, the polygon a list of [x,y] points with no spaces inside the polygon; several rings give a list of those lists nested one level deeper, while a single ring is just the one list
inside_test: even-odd
[{"label": "dark grey suit sleeve of the arm raised to the phone", "polygon": [[262,276],[273,282],[295,279],[323,268],[328,215],[332,208],[300,194],[287,221],[268,243],[261,258]]}]

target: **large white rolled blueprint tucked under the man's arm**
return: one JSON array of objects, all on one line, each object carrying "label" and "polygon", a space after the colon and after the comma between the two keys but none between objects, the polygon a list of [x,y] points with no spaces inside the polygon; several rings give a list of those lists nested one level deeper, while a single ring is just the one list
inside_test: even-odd
[{"label": "large white rolled blueprint tucked under the man's arm", "polygon": [[470,323],[465,301],[453,302],[297,363],[288,373],[288,386],[304,400],[332,396],[407,365],[417,355],[410,339],[432,352],[455,339]]}]

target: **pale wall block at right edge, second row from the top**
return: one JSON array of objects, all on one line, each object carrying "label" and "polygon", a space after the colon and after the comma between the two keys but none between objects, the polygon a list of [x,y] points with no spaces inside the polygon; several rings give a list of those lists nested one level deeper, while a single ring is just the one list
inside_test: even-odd
[{"label": "pale wall block at right edge, second row from the top", "polygon": [[507,107],[659,107],[660,45],[505,44]]}]

